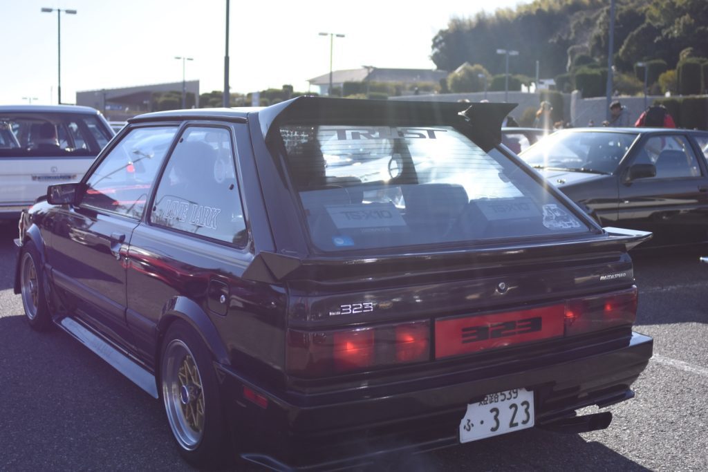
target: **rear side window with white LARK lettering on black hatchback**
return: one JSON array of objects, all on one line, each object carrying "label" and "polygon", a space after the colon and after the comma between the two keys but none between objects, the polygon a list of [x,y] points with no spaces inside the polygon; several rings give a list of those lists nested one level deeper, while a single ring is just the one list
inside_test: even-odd
[{"label": "rear side window with white LARK lettering on black hatchback", "polygon": [[190,127],[171,154],[150,221],[243,247],[246,222],[227,129]]}]

